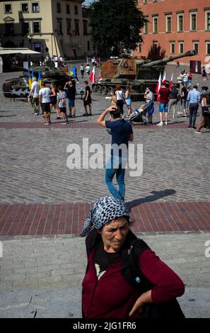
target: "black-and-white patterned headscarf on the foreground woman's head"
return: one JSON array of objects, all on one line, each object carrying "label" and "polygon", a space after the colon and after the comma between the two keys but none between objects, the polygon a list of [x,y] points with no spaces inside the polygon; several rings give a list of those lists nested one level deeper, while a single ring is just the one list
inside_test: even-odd
[{"label": "black-and-white patterned headscarf on the foreground woman's head", "polygon": [[99,230],[107,222],[120,218],[121,216],[128,216],[129,213],[122,200],[112,198],[111,196],[105,196],[96,201],[91,212],[86,218],[81,234],[81,237],[85,237],[90,234],[94,229]]}]

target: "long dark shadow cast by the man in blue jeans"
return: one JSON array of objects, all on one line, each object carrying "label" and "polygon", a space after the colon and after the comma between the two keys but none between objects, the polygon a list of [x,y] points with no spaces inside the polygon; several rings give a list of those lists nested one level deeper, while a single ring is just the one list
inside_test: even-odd
[{"label": "long dark shadow cast by the man in blue jeans", "polygon": [[151,193],[152,193],[151,196],[146,196],[145,198],[140,198],[127,202],[126,205],[129,208],[129,211],[132,210],[132,208],[136,207],[137,205],[141,205],[141,203],[151,203],[152,201],[164,198],[165,196],[172,196],[173,194],[176,193],[176,191],[171,188],[168,188],[164,191],[151,191]]}]

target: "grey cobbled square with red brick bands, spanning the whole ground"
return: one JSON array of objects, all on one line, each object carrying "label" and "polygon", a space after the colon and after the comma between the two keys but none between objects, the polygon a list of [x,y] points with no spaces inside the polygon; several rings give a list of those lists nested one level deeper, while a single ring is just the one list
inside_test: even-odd
[{"label": "grey cobbled square with red brick bands, spanning the whole ground", "polygon": [[[168,67],[168,76],[173,69]],[[0,84],[9,75],[18,74],[2,74]],[[84,137],[89,145],[110,143],[110,135],[95,123],[109,102],[93,94],[94,115],[85,118],[77,98],[74,121],[62,126],[53,113],[54,124],[47,127],[27,101],[2,93],[0,98],[0,317],[80,317],[86,255],[84,239],[75,236],[93,201],[108,192],[103,169],[66,167],[66,148],[72,143],[82,148]],[[143,174],[131,177],[127,170],[126,202],[136,220],[134,231],[146,232],[141,237],[185,281],[180,303],[187,317],[209,317],[204,250],[210,226],[210,133],[196,135],[187,125],[188,119],[170,117],[163,128],[134,126],[135,144],[144,149]],[[86,153],[81,149],[81,157]]]}]

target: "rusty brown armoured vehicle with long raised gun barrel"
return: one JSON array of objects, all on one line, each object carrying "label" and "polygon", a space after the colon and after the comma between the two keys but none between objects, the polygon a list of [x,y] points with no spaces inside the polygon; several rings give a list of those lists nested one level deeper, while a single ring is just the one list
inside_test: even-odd
[{"label": "rusty brown armoured vehicle with long raised gun barrel", "polygon": [[165,57],[156,61],[135,60],[132,58],[107,60],[101,67],[101,79],[98,83],[92,85],[92,90],[100,94],[108,94],[115,89],[117,84],[122,86],[122,89],[125,89],[127,85],[131,85],[132,98],[137,101],[142,98],[146,86],[149,86],[151,91],[155,93],[158,77],[160,72],[163,74],[165,64],[182,57],[192,57],[193,55],[197,55],[197,52],[190,50],[182,55]]}]

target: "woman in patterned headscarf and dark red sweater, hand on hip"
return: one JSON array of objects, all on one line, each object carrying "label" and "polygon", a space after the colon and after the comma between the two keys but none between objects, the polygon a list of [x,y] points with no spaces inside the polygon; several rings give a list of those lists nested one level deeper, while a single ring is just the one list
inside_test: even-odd
[{"label": "woman in patterned headscarf and dark red sweater, hand on hip", "polygon": [[[81,237],[87,236],[88,254],[82,283],[84,318],[145,317],[147,304],[165,303],[167,311],[184,293],[185,286],[177,274],[142,239],[137,239],[130,226],[124,202],[112,197],[100,198],[86,218],[81,232]],[[141,249],[136,261],[142,276],[139,281],[136,278],[139,288],[129,283],[126,261],[131,251],[135,253],[137,243]],[[173,317],[178,316],[176,310],[172,312]]]}]

